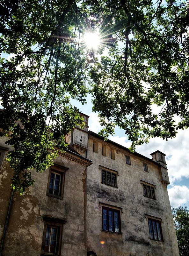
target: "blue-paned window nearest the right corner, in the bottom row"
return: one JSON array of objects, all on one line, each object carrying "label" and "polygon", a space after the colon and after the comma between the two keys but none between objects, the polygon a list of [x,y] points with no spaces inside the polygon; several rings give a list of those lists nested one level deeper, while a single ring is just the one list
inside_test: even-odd
[{"label": "blue-paned window nearest the right corner, in the bottom row", "polygon": [[148,219],[148,226],[150,238],[163,241],[161,221]]}]

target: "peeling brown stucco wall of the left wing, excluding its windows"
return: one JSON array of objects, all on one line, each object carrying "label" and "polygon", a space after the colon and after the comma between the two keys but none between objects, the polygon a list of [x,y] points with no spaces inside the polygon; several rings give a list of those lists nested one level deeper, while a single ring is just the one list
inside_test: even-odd
[{"label": "peeling brown stucco wall of the left wing, excluding its windows", "polygon": [[[1,138],[0,146],[6,139]],[[73,156],[58,156],[56,164],[68,167],[65,173],[63,200],[46,195],[49,169],[32,172],[35,180],[25,195],[14,196],[3,256],[40,256],[44,230],[44,215],[65,219],[62,235],[62,256],[86,255],[86,165]],[[82,161],[81,161],[82,162]],[[84,161],[83,161],[84,162]],[[85,163],[86,164],[86,163]],[[12,170],[4,160],[0,170],[0,236],[2,236],[11,196]]]}]

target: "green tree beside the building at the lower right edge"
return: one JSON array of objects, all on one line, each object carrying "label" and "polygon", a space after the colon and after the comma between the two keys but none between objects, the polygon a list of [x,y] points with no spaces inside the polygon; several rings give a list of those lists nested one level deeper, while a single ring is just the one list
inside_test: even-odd
[{"label": "green tree beside the building at the lower right edge", "polygon": [[172,208],[180,256],[189,255],[189,211],[186,206]]}]

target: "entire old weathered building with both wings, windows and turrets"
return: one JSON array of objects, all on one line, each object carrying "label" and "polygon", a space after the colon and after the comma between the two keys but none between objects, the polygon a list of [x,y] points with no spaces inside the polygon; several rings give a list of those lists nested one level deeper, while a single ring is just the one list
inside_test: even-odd
[{"label": "entire old weathered building with both wings, windows and turrets", "polygon": [[150,159],[104,141],[83,116],[86,126],[66,138],[69,149],[33,172],[22,197],[11,197],[9,148],[0,139],[1,255],[179,256],[165,154]]}]

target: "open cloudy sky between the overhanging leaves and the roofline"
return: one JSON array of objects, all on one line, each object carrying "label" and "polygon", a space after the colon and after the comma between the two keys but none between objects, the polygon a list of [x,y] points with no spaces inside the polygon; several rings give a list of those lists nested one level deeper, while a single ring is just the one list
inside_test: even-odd
[{"label": "open cloudy sky between the overhanging leaves and the roofline", "polygon": [[[77,101],[71,101],[79,110],[90,116],[89,130],[98,133],[102,127],[98,122],[98,113],[92,112],[91,97],[87,96],[87,104],[82,106]],[[116,127],[115,134],[110,140],[129,148],[131,141],[127,139],[124,130]],[[151,158],[150,154],[160,150],[166,154],[170,185],[167,186],[170,204],[173,207],[186,205],[189,209],[189,129],[179,130],[176,137],[168,141],[161,138],[152,138],[149,143],[136,147],[136,152]]]}]

